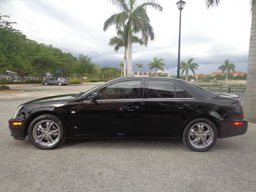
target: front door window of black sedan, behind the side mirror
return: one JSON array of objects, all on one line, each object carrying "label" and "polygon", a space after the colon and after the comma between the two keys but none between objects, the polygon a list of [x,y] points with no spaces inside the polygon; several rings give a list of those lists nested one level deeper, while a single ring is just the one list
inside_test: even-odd
[{"label": "front door window of black sedan, behind the side mirror", "polygon": [[98,91],[100,100],[136,99],[140,92],[141,80],[128,80],[106,86]]}]

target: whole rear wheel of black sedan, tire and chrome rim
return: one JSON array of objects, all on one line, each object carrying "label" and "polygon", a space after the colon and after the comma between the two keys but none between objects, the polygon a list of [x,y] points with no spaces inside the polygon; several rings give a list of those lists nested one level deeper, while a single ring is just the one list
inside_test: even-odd
[{"label": "whole rear wheel of black sedan, tire and chrome rim", "polygon": [[196,152],[210,150],[218,139],[218,130],[213,122],[206,118],[197,118],[189,122],[182,136],[184,144]]}]

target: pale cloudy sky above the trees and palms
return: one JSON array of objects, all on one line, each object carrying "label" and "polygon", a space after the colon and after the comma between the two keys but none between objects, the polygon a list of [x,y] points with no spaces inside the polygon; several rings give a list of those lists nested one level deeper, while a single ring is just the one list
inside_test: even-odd
[{"label": "pale cloudy sky above the trees and palms", "polygon": [[[135,63],[144,65],[154,57],[163,58],[170,74],[176,74],[178,58],[178,0],[159,0],[164,10],[148,10],[155,40],[147,47],[133,44]],[[250,40],[249,0],[222,0],[218,8],[206,9],[205,0],[185,0],[182,10],[181,61],[194,58],[196,73],[218,71],[225,59],[236,71],[247,71]],[[137,0],[138,3],[141,0]],[[100,66],[116,66],[124,49],[114,52],[108,46],[115,28],[103,32],[103,24],[118,9],[107,0],[0,0],[0,13],[16,21],[16,29],[38,43],[52,44],[64,52],[89,55]]]}]

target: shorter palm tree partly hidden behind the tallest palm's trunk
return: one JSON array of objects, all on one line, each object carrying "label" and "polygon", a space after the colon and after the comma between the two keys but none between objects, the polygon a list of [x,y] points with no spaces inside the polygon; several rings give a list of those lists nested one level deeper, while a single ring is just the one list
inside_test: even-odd
[{"label": "shorter palm tree partly hidden behind the tallest palm's trunk", "polygon": [[[123,26],[123,29],[119,29],[117,31],[117,36],[110,38],[109,44],[110,46],[114,46],[114,50],[117,52],[121,47],[124,47],[124,77],[126,77],[126,58],[127,58],[127,39],[128,39],[128,31],[126,30],[127,26]],[[142,38],[136,35],[132,35],[132,43],[137,43],[140,45],[144,45]]]}]

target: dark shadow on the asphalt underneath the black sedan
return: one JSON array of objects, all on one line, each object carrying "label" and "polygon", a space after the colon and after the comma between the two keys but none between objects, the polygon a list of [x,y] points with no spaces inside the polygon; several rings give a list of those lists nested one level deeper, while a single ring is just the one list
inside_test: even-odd
[{"label": "dark shadow on the asphalt underneath the black sedan", "polygon": [[[21,141],[15,142],[16,145],[21,146]],[[22,142],[24,147],[34,147],[30,142],[28,136],[25,142]],[[237,150],[243,148],[241,144],[237,144],[231,139],[218,139],[216,145],[209,150],[209,152],[218,150]],[[79,148],[93,148],[93,149],[161,149],[161,150],[181,150],[191,151],[182,142],[181,138],[68,138],[65,142],[59,146],[58,149],[79,149]]]}]

